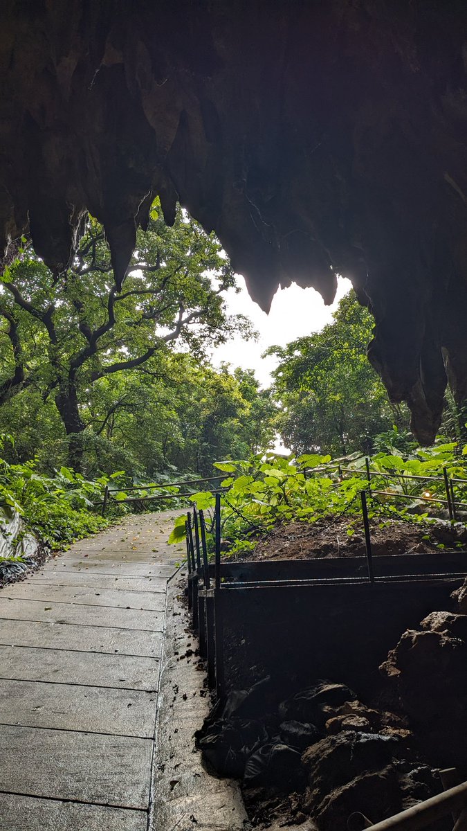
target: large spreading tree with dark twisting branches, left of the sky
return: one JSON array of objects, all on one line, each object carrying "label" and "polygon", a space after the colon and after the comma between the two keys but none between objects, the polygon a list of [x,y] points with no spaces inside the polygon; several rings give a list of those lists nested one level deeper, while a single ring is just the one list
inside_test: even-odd
[{"label": "large spreading tree with dark twisting branches, left of the sky", "polygon": [[[232,332],[251,336],[245,317],[226,314],[222,294],[234,285],[214,235],[181,209],[169,228],[155,205],[122,286],[113,281],[95,220],[64,274],[23,250],[0,281],[0,405],[28,387],[43,401],[52,398],[68,437],[68,464],[80,470],[83,409],[97,382],[143,368],[150,376],[151,361],[175,342],[202,355],[208,342],[224,342]],[[112,401],[96,435],[110,428],[118,409],[135,403],[127,393]]]}]

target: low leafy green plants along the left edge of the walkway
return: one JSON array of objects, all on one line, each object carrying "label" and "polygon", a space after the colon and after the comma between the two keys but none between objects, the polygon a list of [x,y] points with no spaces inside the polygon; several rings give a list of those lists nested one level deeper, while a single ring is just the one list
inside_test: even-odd
[{"label": "low leafy green plants along the left edge of the walkway", "polygon": [[[3,436],[2,446],[7,440]],[[0,507],[17,511],[25,529],[42,543],[62,548],[106,526],[106,520],[92,510],[107,481],[88,481],[66,467],[54,476],[40,475],[35,460],[10,465],[0,458]]]}]

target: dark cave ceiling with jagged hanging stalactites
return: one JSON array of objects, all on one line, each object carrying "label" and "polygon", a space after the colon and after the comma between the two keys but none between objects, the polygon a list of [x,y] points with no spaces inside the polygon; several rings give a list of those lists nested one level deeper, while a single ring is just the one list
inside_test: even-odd
[{"label": "dark cave ceiling with jagged hanging stalactites", "polygon": [[467,396],[466,69],[464,0],[2,0],[2,253],[60,273],[90,211],[120,285],[159,194],[265,308],[342,273],[429,443]]}]

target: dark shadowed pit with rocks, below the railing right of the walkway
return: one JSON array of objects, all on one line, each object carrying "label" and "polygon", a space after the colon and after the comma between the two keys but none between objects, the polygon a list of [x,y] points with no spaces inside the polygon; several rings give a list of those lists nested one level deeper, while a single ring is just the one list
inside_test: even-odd
[{"label": "dark shadowed pit with rocks, below the railing right of the walkway", "polygon": [[197,746],[254,827],[344,831],[440,793],[440,769],[467,778],[466,585],[220,590],[225,694]]}]

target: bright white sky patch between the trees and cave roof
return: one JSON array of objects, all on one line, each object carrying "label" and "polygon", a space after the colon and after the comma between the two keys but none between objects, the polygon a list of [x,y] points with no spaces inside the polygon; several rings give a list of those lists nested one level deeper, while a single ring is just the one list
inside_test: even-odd
[{"label": "bright white sky patch between the trees and cave roof", "polygon": [[240,293],[235,294],[234,289],[229,289],[226,295],[229,313],[242,313],[249,317],[259,332],[259,338],[254,342],[235,337],[229,343],[217,347],[213,351],[214,366],[219,366],[221,361],[227,361],[233,367],[254,369],[262,386],[269,386],[270,373],[275,368],[276,361],[273,357],[262,358],[263,352],[275,344],[285,346],[297,337],[319,332],[323,326],[331,322],[332,312],[337,303],[351,288],[350,280],[337,279],[337,295],[332,306],[325,306],[321,294],[315,292],[314,288],[299,288],[296,283],[292,283],[289,288],[278,289],[273,298],[271,311],[267,315],[253,302],[243,277],[238,275]]}]

